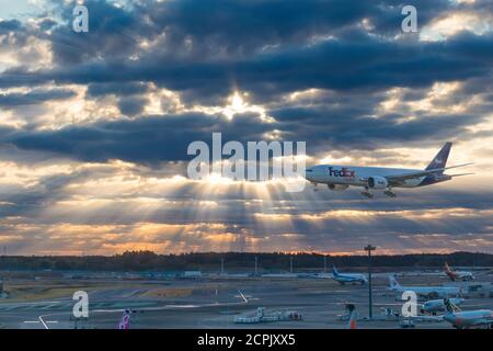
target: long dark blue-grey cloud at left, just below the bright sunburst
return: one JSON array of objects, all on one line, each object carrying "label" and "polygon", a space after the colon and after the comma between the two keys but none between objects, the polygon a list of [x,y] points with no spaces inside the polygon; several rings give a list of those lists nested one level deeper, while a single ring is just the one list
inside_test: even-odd
[{"label": "long dark blue-grey cloud at left, just below the bright sunburst", "polygon": [[58,152],[84,161],[122,159],[134,162],[184,160],[190,143],[209,141],[213,132],[225,139],[257,140],[270,131],[256,116],[182,114],[146,116],[137,120],[99,122],[87,126],[68,126],[59,131],[0,129],[2,140],[26,150]]}]

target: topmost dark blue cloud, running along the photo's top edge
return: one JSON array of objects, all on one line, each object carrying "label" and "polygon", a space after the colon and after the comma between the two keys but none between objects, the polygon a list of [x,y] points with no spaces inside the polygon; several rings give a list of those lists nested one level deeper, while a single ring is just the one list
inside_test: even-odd
[{"label": "topmost dark blue cloud, running along the photo's top edge", "polygon": [[[66,27],[58,29],[54,43],[60,63],[124,56],[140,39],[152,41],[162,34],[165,38],[157,50],[171,56],[245,57],[268,46],[305,44],[313,37],[337,34],[360,25],[364,19],[376,33],[394,35],[400,32],[405,4],[419,9],[421,25],[452,8],[447,0],[182,0],[134,2],[125,8],[105,1],[84,3],[90,9],[93,35],[77,36]],[[70,22],[71,7],[59,8]]]}]

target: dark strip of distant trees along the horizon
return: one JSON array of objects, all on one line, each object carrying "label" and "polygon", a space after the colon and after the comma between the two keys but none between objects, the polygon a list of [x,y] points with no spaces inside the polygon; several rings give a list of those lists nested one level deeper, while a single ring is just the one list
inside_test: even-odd
[{"label": "dark strip of distant trees along the horizon", "polygon": [[[190,252],[180,254],[157,254],[152,251],[127,251],[106,256],[2,256],[0,270],[61,270],[61,271],[173,271],[203,270],[218,271],[221,258],[226,270],[253,271],[254,258],[259,259],[260,270],[288,271],[289,258],[294,257],[296,271],[321,270],[323,256],[319,253],[253,253],[253,252]],[[447,261],[451,265],[492,267],[493,254],[478,252],[454,252],[448,254],[422,253],[375,256],[374,265],[442,268]],[[328,269],[332,263],[339,267],[365,268],[366,256],[326,256]]]}]

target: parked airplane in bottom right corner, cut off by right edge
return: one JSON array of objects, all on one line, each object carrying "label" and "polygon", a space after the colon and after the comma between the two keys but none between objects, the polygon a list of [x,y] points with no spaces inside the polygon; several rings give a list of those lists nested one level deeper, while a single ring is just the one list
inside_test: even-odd
[{"label": "parked airplane in bottom right corner, cut off by right edge", "polygon": [[480,327],[491,329],[493,320],[493,312],[491,309],[474,309],[462,312],[448,298],[444,299],[444,304],[447,308],[447,313],[444,315],[444,319],[451,324],[454,328],[462,329]]}]

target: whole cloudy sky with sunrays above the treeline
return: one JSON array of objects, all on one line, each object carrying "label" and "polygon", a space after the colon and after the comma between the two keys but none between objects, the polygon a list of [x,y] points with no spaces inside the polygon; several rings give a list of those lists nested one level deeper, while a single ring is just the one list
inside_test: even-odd
[{"label": "whole cloudy sky with sunrays above the treeline", "polygon": [[[493,252],[492,0],[0,0],[0,246],[14,254]],[[402,7],[419,32],[403,33]],[[475,174],[397,199],[194,181],[187,145]]]}]

